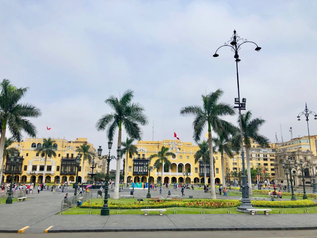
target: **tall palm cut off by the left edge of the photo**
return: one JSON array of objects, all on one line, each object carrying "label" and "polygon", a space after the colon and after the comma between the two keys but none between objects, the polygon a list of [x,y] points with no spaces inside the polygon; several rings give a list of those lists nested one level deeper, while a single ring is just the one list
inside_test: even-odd
[{"label": "tall palm cut off by the left edge of the photo", "polygon": [[[22,141],[23,131],[36,137],[36,127],[26,117],[39,117],[41,110],[29,103],[19,103],[29,88],[16,88],[8,79],[0,83],[0,164],[2,164],[7,126],[16,141]],[[2,173],[0,174],[2,177]]]}]

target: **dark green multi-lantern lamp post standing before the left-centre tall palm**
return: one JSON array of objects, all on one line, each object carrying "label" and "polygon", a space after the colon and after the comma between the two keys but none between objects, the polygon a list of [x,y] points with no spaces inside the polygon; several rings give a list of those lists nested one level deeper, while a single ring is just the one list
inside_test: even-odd
[{"label": "dark green multi-lantern lamp post standing before the left-centre tall palm", "polygon": [[103,200],[103,206],[101,208],[100,215],[101,216],[108,216],[109,215],[109,207],[108,207],[108,189],[109,189],[109,166],[110,166],[110,161],[111,160],[120,160],[120,155],[121,155],[121,150],[117,149],[117,157],[111,155],[110,156],[110,150],[112,147],[112,141],[108,142],[108,149],[109,149],[109,154],[108,155],[103,155],[101,156],[102,149],[101,146],[97,149],[98,151],[98,157],[101,160],[107,160],[107,175],[105,177],[106,180],[106,186],[105,186],[105,198]]}]

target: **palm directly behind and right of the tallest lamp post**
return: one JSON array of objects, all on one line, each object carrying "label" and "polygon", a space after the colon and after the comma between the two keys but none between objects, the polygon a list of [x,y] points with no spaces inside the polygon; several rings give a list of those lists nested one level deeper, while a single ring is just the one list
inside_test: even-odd
[{"label": "palm directly behind and right of the tallest lamp post", "polygon": [[[260,127],[266,122],[262,118],[251,119],[251,111],[247,111],[245,114],[241,115],[242,122],[242,134],[243,134],[243,143],[245,145],[245,154],[247,161],[247,174],[248,174],[248,183],[249,183],[249,194],[252,195],[252,184],[251,184],[251,171],[250,171],[250,160],[249,160],[249,148],[251,147],[251,142],[256,142],[262,147],[268,145],[268,138],[259,134]],[[238,124],[240,125],[240,119],[238,119]],[[240,138],[240,133],[236,135],[236,138]],[[236,139],[240,144],[240,140]],[[241,144],[240,144],[241,148]]]}]

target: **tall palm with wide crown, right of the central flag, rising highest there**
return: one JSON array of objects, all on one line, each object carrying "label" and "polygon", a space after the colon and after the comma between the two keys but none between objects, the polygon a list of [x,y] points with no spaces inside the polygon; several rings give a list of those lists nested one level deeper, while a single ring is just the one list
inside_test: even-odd
[{"label": "tall palm with wide crown, right of the central flag, rising highest there", "polygon": [[[208,145],[209,145],[209,158],[213,158],[211,128],[216,131],[228,131],[230,123],[219,118],[220,116],[234,115],[233,107],[224,102],[218,102],[219,98],[223,95],[223,90],[217,89],[206,96],[202,95],[202,106],[187,106],[180,110],[182,116],[192,115],[195,117],[192,123],[194,133],[193,138],[195,142],[200,140],[200,136],[204,131],[205,124],[208,125]],[[211,185],[211,198],[216,199],[215,191],[215,173],[214,161],[210,160],[210,185]]]}]

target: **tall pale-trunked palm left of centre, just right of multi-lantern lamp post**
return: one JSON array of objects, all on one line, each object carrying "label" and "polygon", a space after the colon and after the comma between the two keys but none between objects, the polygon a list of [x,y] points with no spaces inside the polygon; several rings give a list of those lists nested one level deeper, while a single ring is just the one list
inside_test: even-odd
[{"label": "tall pale-trunked palm left of centre, just right of multi-lantern lamp post", "polygon": [[[116,129],[118,133],[118,149],[121,150],[121,131],[122,125],[126,133],[133,139],[141,140],[142,132],[139,124],[144,126],[148,123],[147,116],[143,113],[144,108],[139,103],[132,103],[133,91],[128,89],[118,99],[115,96],[109,96],[105,100],[114,112],[111,114],[104,114],[96,123],[96,129],[103,131],[107,129],[107,136],[109,140],[113,140]],[[113,199],[119,199],[119,180],[120,180],[120,160],[117,160],[116,180],[114,187]]]}]

